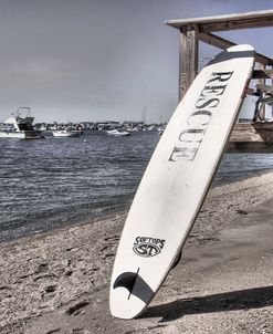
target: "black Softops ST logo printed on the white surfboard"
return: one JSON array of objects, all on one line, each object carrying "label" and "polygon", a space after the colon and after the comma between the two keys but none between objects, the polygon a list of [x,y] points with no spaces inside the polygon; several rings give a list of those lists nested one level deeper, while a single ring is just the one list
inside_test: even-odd
[{"label": "black Softops ST logo printed on the white surfboard", "polygon": [[161,252],[164,244],[164,239],[137,237],[133,250],[139,257],[151,258]]}]

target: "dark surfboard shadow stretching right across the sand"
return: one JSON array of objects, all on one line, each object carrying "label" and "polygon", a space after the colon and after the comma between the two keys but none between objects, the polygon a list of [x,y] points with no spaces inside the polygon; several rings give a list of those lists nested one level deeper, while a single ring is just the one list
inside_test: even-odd
[{"label": "dark surfboard shadow stretching right across the sand", "polygon": [[207,296],[182,299],[148,307],[141,317],[161,317],[174,321],[189,314],[251,310],[273,305],[273,286],[232,291]]}]

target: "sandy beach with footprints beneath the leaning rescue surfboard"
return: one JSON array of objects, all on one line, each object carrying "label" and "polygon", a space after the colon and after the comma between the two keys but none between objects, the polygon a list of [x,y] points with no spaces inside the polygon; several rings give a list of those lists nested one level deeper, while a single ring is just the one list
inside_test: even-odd
[{"label": "sandy beach with footprints beneath the leaning rescue surfboard", "polygon": [[0,244],[0,333],[273,333],[273,173],[212,188],[141,317],[113,319],[126,212]]}]

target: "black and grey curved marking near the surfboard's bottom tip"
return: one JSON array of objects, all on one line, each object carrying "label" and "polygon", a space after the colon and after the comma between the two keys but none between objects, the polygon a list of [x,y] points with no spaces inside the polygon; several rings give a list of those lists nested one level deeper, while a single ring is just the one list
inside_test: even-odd
[{"label": "black and grey curved marking near the surfboard's bottom tip", "polygon": [[125,288],[128,290],[129,295],[128,300],[130,299],[130,295],[135,295],[139,298],[144,303],[148,303],[155,292],[151,290],[151,288],[144,281],[144,279],[138,274],[139,269],[137,272],[124,272],[120,275],[117,276],[117,279],[114,282],[113,288]]}]

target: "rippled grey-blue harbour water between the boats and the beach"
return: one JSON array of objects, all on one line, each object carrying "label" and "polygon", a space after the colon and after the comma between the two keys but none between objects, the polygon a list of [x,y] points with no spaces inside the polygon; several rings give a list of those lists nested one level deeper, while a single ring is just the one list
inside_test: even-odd
[{"label": "rippled grey-blue harbour water between the boats and the beach", "polygon": [[[159,140],[112,137],[0,140],[0,241],[128,208]],[[273,169],[273,154],[225,154],[213,186]]]}]

